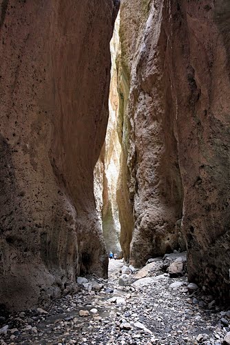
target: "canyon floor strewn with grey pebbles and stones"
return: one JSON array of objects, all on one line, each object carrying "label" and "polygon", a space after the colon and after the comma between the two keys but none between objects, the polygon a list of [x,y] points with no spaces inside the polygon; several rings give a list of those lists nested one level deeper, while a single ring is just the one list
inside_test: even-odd
[{"label": "canyon floor strewn with grey pebbles and stones", "polygon": [[112,259],[109,279],[80,278],[46,310],[0,315],[0,344],[230,344],[230,311],[176,277],[184,262],[177,253],[136,271]]}]

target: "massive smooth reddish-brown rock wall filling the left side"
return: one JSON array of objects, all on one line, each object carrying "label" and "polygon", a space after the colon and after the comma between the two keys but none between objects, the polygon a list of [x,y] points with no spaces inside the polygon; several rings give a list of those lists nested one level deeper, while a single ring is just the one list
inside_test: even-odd
[{"label": "massive smooth reddish-brown rock wall filling the left side", "polygon": [[0,304],[43,304],[107,274],[93,169],[118,1],[1,0]]}]

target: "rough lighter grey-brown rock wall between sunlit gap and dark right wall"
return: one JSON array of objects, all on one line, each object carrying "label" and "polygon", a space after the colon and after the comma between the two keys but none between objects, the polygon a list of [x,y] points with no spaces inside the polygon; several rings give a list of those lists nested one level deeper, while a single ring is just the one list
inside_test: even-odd
[{"label": "rough lighter grey-brown rock wall between sunlit gap and dark right wall", "polygon": [[160,1],[124,1],[121,6],[121,55],[130,75],[127,177],[135,221],[130,262],[138,266],[178,248],[176,222],[182,217],[162,9]]}]

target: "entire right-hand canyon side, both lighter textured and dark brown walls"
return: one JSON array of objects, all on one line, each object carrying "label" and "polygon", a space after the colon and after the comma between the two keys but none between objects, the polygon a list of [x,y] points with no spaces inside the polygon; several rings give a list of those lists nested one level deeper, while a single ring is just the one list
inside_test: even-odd
[{"label": "entire right-hand canyon side, both lighter textured and dark brown walls", "polygon": [[130,75],[130,260],[142,264],[178,246],[182,217],[189,279],[225,301],[229,18],[226,0],[124,0],[121,7],[121,55]]}]

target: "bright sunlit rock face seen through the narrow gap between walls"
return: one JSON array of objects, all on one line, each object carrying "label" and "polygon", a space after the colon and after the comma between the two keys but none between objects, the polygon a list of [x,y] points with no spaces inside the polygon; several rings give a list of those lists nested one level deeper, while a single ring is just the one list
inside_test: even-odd
[{"label": "bright sunlit rock face seen through the narrow gap between walls", "polygon": [[110,42],[111,81],[109,90],[109,121],[105,144],[94,169],[94,195],[107,252],[117,253],[122,257],[120,233],[121,226],[118,217],[116,190],[120,171],[121,144],[118,138],[118,106],[116,57],[120,48],[119,40],[120,15],[115,22],[114,34]]}]

